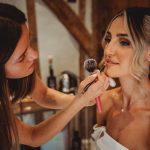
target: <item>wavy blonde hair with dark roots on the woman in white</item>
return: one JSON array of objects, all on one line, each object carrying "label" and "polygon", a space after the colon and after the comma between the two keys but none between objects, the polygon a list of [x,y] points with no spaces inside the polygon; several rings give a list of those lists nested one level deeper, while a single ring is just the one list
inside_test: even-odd
[{"label": "wavy blonde hair with dark roots on the woman in white", "polygon": [[[105,48],[105,36],[112,22],[117,17],[124,17],[124,26],[131,41],[134,56],[131,61],[130,74],[140,83],[143,77],[150,76],[149,66],[146,65],[145,55],[150,48],[150,8],[132,7],[127,8],[115,15],[108,25],[102,39]],[[102,62],[103,63],[103,60]]]}]

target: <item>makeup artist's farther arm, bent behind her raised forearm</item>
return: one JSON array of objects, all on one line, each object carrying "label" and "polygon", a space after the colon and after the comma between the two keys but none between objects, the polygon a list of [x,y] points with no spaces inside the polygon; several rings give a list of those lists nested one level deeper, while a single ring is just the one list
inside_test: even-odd
[{"label": "makeup artist's farther arm, bent behind her raised forearm", "polygon": [[63,109],[74,99],[74,95],[64,94],[48,88],[36,75],[35,88],[30,94],[31,98],[40,106],[53,109]]}]

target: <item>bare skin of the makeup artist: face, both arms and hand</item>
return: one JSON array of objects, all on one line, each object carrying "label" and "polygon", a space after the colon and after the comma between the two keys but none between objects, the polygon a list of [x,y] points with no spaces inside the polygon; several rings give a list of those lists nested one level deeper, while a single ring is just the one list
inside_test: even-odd
[{"label": "bare skin of the makeup artist: face, both arms and hand", "polygon": [[[24,24],[22,25],[22,36],[14,53],[5,64],[7,78],[22,78],[30,75],[34,71],[37,58],[37,52],[29,44],[29,31]],[[92,84],[83,94],[84,87],[95,78],[98,79],[97,82]],[[33,147],[46,143],[62,130],[81,109],[95,104],[95,98],[108,87],[107,78],[105,78],[105,81],[103,80],[104,77],[96,72],[80,83],[76,96],[71,96],[48,88],[36,75],[35,88],[30,95],[33,100],[43,107],[63,110],[34,126],[25,124],[16,118],[19,143]],[[105,87],[101,86],[102,81],[105,82]]]}]

